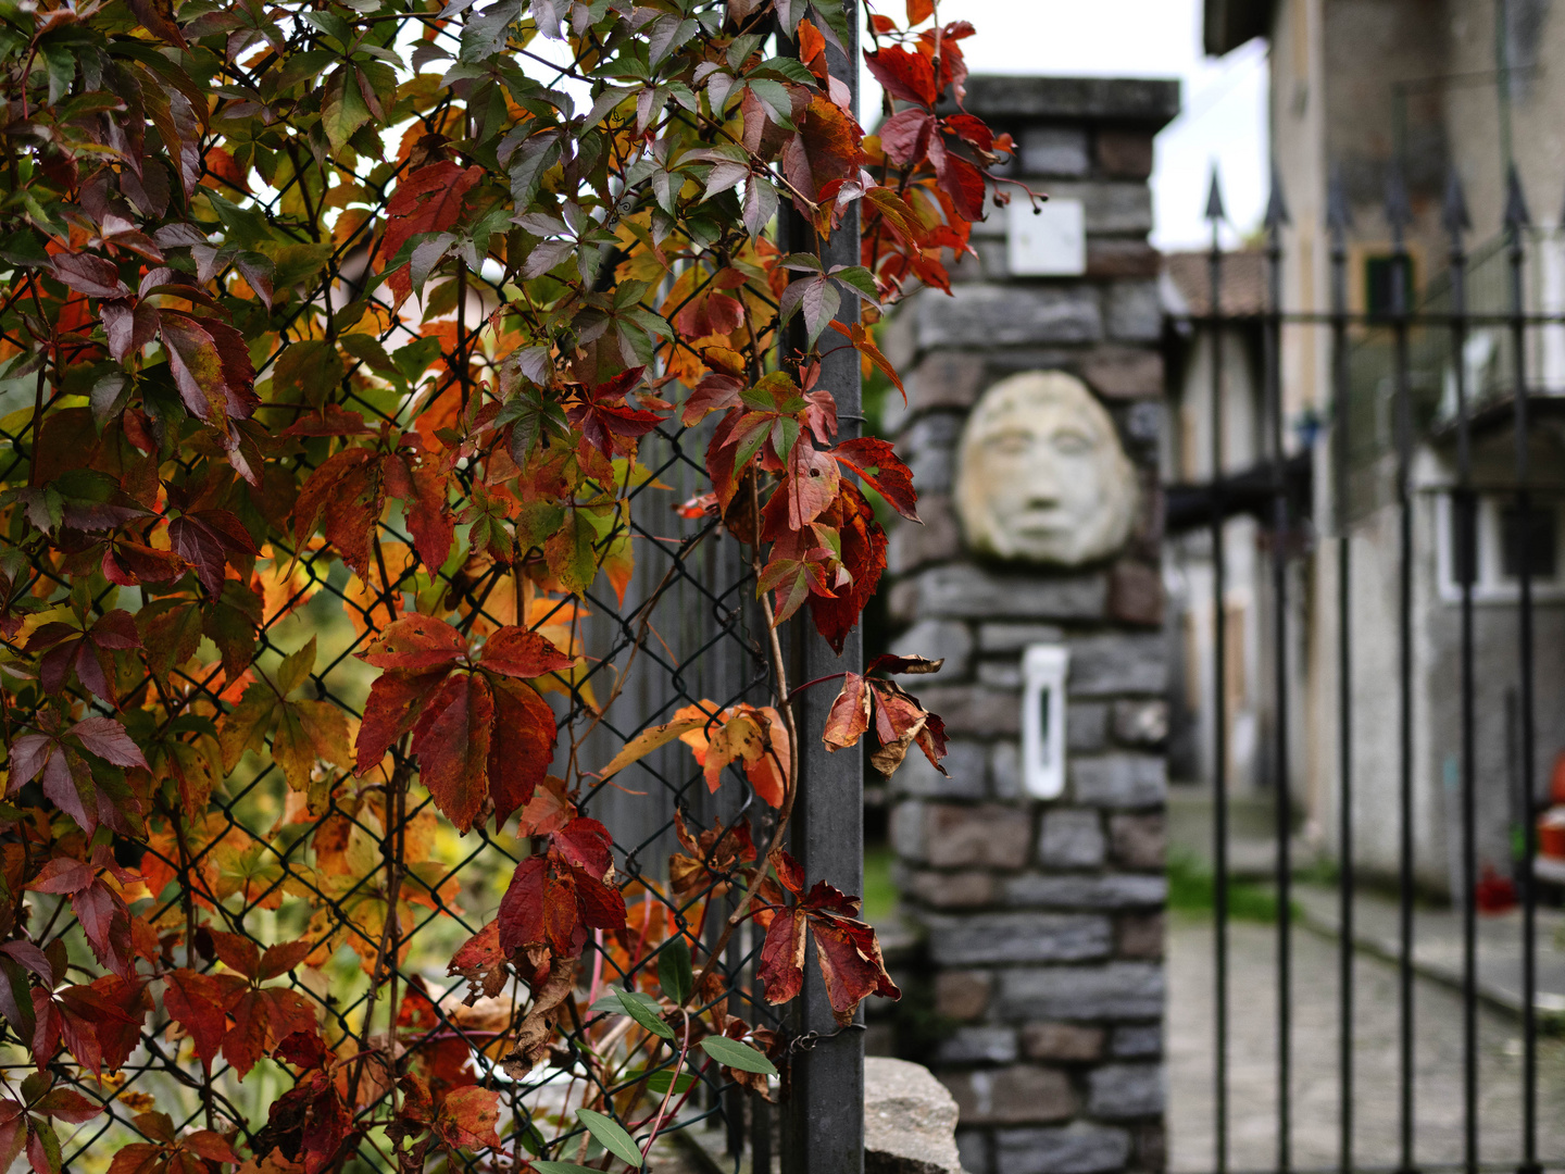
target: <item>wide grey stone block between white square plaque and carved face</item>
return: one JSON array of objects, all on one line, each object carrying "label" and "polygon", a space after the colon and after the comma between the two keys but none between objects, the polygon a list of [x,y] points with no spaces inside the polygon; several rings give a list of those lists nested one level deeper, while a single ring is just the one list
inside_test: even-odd
[{"label": "wide grey stone block between white square plaque and carved face", "polygon": [[1083,285],[991,285],[916,294],[920,349],[1092,343],[1103,337],[1097,294]]}]

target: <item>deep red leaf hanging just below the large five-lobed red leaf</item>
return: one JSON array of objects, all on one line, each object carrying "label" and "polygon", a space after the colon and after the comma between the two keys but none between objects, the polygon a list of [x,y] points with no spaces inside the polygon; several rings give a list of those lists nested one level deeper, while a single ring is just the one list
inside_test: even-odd
[{"label": "deep red leaf hanging just below the large five-lobed red leaf", "polygon": [[624,928],[624,897],[551,848],[516,866],[499,903],[504,952],[546,945],[556,958],[576,958],[587,930]]}]

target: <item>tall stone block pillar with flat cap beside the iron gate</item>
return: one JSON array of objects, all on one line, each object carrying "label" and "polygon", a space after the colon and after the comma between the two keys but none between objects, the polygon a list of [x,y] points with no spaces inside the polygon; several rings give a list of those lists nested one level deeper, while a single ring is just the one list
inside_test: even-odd
[{"label": "tall stone block pillar with flat cap beside the iron gate", "polygon": [[[1177,113],[1178,86],[975,77],[967,108],[1020,144],[1017,178],[1080,200],[1086,239],[1077,272],[1045,258],[1066,272],[1014,275],[998,210],[975,229],[978,258],[959,266],[956,296],[925,290],[887,330],[895,362],[914,373],[892,423],[926,521],[892,535],[890,614],[905,628],[895,648],[945,657],[937,678],[905,684],[950,736],[950,778],[911,754],[892,780],[898,883],[925,936],[936,1011],[925,1058],[961,1108],[970,1174],[1158,1171],[1164,412],[1146,238],[1152,136]],[[1128,457],[1117,468],[1139,482],[1113,551],[1061,565],[975,549],[994,543],[959,515],[961,452],[1000,449],[967,449],[964,426],[1019,373],[1074,376],[1106,409]],[[1024,790],[1020,657],[1038,642],[1070,653],[1066,789],[1053,800]]]}]

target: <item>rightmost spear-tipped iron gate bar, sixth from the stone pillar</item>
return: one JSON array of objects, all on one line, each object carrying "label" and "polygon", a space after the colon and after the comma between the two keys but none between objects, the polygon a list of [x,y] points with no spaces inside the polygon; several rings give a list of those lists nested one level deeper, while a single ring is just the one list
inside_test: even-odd
[{"label": "rightmost spear-tipped iron gate bar, sixth from the stone pillar", "polygon": [[1521,319],[1523,230],[1529,224],[1527,202],[1521,193],[1521,177],[1515,163],[1506,175],[1506,236],[1510,260],[1512,362],[1516,394],[1516,535],[1518,570],[1518,632],[1521,673],[1521,1174],[1538,1169],[1538,1025],[1537,1025],[1537,909],[1538,894],[1532,877],[1532,853],[1537,852],[1537,795],[1532,789],[1532,499],[1527,490],[1531,460],[1527,454],[1527,385]]}]

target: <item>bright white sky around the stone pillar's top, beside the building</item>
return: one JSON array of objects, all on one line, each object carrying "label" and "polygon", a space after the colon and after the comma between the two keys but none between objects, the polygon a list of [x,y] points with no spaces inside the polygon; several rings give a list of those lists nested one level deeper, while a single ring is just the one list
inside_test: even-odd
[{"label": "bright white sky around the stone pillar's top, beside the building", "polygon": [[[897,0],[880,0],[901,17]],[[1235,229],[1254,229],[1266,205],[1266,47],[1225,58],[1200,49],[1200,0],[944,0],[942,20],[972,20],[962,42],[975,74],[1177,77],[1183,113],[1158,135],[1152,199],[1161,249],[1210,241],[1200,219],[1216,163]],[[864,75],[859,110],[880,106]]]}]

